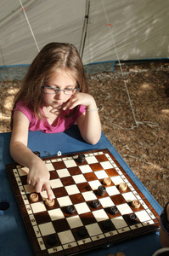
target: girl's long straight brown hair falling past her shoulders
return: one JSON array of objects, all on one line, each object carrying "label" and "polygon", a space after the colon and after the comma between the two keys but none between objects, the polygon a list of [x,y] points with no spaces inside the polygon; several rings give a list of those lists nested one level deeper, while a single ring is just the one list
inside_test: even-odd
[{"label": "girl's long straight brown hair falling past her shoulders", "polygon": [[[81,92],[87,92],[87,78],[81,57],[73,44],[50,43],[45,45],[32,61],[25,75],[19,92],[14,97],[14,107],[21,100],[31,108],[38,118],[42,118],[43,106],[42,83],[60,70],[65,70],[75,77]],[[76,113],[77,108],[73,113]]]}]

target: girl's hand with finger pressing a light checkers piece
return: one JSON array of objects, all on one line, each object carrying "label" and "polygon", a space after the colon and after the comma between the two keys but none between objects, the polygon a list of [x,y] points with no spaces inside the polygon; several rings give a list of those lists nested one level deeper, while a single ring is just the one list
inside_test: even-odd
[{"label": "girl's hand with finger pressing a light checkers piece", "polygon": [[37,193],[44,189],[47,192],[48,199],[52,200],[52,190],[49,183],[49,172],[41,159],[33,163],[27,176],[27,183],[31,185]]}]

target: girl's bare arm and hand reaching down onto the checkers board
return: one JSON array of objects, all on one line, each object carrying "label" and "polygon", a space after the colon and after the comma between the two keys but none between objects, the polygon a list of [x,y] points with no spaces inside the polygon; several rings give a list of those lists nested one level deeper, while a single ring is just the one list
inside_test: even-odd
[{"label": "girl's bare arm and hand reaching down onto the checkers board", "polygon": [[13,131],[10,141],[10,154],[13,159],[22,166],[29,168],[27,183],[30,184],[37,193],[46,189],[48,198],[52,199],[52,192],[49,185],[49,172],[43,161],[29,148],[28,141],[29,120],[24,113],[14,112]]}]

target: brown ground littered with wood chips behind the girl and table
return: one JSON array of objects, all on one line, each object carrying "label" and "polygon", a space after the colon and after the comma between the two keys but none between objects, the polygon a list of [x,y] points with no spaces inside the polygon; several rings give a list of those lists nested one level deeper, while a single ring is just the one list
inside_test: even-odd
[{"label": "brown ground littered with wood chips behind the girl and table", "polygon": [[[169,63],[116,65],[88,75],[103,132],[155,200],[169,201]],[[0,132],[21,81],[0,82]]]}]

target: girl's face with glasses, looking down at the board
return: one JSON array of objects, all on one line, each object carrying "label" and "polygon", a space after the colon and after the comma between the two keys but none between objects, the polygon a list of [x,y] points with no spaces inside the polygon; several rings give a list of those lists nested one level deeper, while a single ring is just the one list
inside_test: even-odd
[{"label": "girl's face with glasses, looking down at the board", "polygon": [[[63,91],[64,89],[75,89],[77,88],[76,79],[70,75],[70,73],[65,71],[60,71],[56,75],[52,75],[47,83],[44,83],[44,86],[58,88],[60,89],[57,94],[45,93],[43,92],[43,100],[45,102],[46,107],[52,108],[63,108],[65,106],[65,102],[70,99],[71,95],[66,95]],[[56,90],[45,90],[48,92],[56,91]]]}]

